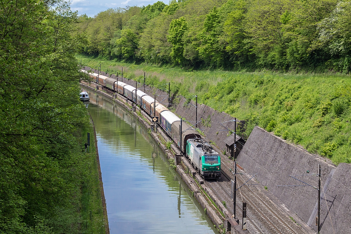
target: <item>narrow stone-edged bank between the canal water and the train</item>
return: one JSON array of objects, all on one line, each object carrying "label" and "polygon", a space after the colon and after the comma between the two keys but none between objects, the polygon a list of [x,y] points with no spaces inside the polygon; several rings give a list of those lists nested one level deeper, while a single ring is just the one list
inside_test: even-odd
[{"label": "narrow stone-edged bank between the canal water and the train", "polygon": [[[94,87],[90,87],[87,84],[83,86],[91,90],[95,90]],[[126,101],[122,96],[115,95],[114,97],[112,97],[111,95],[99,90],[96,92],[110,100],[113,100],[114,102],[117,102],[127,112],[131,113],[134,116],[134,118],[136,118],[145,127],[146,131],[150,134],[150,136],[157,142],[157,146],[160,147],[161,151],[167,156],[167,159],[171,162],[174,162],[174,154],[177,154],[178,149],[174,145],[171,145],[171,149],[167,149],[165,143],[171,140],[168,139],[167,136],[160,131],[160,129],[158,129],[158,133],[151,132],[149,124],[149,122],[151,122],[151,119],[149,116],[147,116],[142,111],[140,112],[139,110],[137,110],[137,112],[132,112],[131,103]],[[194,176],[195,179],[193,178],[192,172],[194,171],[194,169],[189,165],[187,160],[183,160],[181,164],[182,165],[177,165],[173,167],[176,168],[176,171],[181,176],[181,179],[185,182],[188,189],[190,189],[191,194],[199,202],[202,209],[206,211],[206,214],[210,217],[211,221],[214,223],[216,228],[222,229],[224,218],[220,210],[226,210],[226,208],[221,204],[221,202],[214,201],[213,199],[211,200],[209,198],[208,194],[205,193],[204,186],[201,185],[200,180],[197,181],[196,176]],[[216,206],[220,208],[217,209]]]}]

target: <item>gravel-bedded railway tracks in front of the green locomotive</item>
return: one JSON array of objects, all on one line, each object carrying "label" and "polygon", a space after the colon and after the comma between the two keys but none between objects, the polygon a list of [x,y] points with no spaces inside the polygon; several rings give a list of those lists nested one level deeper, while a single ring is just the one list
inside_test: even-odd
[{"label": "gravel-bedded railway tracks in front of the green locomotive", "polygon": [[[232,173],[229,171],[229,168],[224,163],[222,163],[222,172],[224,172],[222,179],[219,181],[216,181],[216,183],[218,183],[219,187],[223,189],[227,194],[228,199],[226,199],[226,201],[230,201],[230,203],[232,203],[229,192],[231,190],[230,181],[233,178],[231,178]],[[244,183],[244,178],[240,178],[240,177],[241,176],[237,176],[237,182],[238,182],[237,187],[240,187]],[[253,190],[249,186],[244,185],[243,187],[240,188],[240,190],[237,191],[237,201],[240,200],[241,196],[242,196],[242,199],[246,201],[248,203],[248,206],[251,208],[247,212],[247,213],[250,213],[250,219],[249,218],[247,219],[250,221],[248,223],[253,224],[254,226],[253,231],[255,231],[254,233],[272,233],[272,234],[273,233],[278,233],[278,234],[303,234],[304,233],[298,226],[296,226],[285,215],[282,215],[284,218],[278,215],[281,212],[278,211],[276,208],[271,208],[269,205],[267,205],[266,202],[263,201],[257,195],[257,193],[253,192]],[[220,199],[223,200],[222,198]],[[237,207],[239,206],[237,205]],[[239,208],[241,209],[241,207]],[[254,229],[258,230],[258,232],[256,232],[256,230]]]}]

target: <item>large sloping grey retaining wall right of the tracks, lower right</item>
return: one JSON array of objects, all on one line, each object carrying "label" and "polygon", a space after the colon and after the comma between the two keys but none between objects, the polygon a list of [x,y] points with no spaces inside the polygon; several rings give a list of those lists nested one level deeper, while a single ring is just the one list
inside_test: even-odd
[{"label": "large sloping grey retaining wall right of the tracks, lower right", "polygon": [[[294,177],[318,187],[318,177],[311,174],[318,174],[318,164],[321,164],[321,187],[325,191],[328,206],[333,211],[331,218],[334,228],[340,229],[344,220],[348,222],[347,228],[343,229],[348,232],[335,233],[351,233],[351,191],[345,187],[342,188],[343,185],[336,181],[340,180],[347,187],[351,187],[349,164],[341,163],[336,168],[329,160],[310,154],[259,127],[255,127],[247,139],[239,155],[238,163],[246,173],[258,173],[256,180],[260,185],[267,186],[273,195],[315,230],[317,230],[315,217],[317,216],[318,190],[310,186],[278,187],[277,185],[306,185],[289,176],[297,175]],[[310,173],[306,173],[307,170]],[[322,230],[325,231],[323,233],[333,233],[323,191],[321,198],[320,222],[323,225]],[[346,219],[343,218],[345,215],[347,215]]]}]

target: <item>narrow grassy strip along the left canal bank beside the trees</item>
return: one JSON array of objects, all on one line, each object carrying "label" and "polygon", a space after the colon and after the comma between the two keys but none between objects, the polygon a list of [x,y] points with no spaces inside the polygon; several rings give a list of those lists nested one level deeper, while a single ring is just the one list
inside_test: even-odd
[{"label": "narrow grassy strip along the left canal bank beside the trees", "polygon": [[[105,221],[100,193],[99,172],[96,158],[95,138],[93,126],[85,129],[81,135],[81,145],[87,142],[87,133],[90,132],[90,153],[84,153],[84,181],[81,187],[81,233],[105,234]],[[82,170],[83,171],[83,170]],[[107,217],[105,217],[107,221]]]}]

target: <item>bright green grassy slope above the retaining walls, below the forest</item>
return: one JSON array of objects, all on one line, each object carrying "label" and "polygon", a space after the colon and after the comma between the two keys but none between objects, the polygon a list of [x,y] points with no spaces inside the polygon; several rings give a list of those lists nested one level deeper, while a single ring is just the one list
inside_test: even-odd
[{"label": "bright green grassy slope above the retaining walls, below the forest", "polygon": [[[135,65],[77,55],[82,64],[162,88],[171,93],[198,95],[198,102],[247,120],[248,137],[254,126],[302,145],[334,163],[351,162],[351,79],[339,74],[282,74],[271,72],[184,71]],[[166,88],[166,87],[164,87]]]}]

